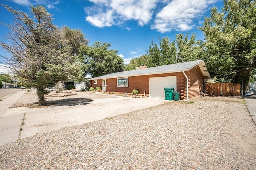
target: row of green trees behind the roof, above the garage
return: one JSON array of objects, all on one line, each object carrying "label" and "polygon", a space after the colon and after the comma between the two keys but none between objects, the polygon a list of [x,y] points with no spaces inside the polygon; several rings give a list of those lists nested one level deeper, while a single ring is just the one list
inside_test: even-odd
[{"label": "row of green trees behind the roof, above the garage", "polygon": [[146,54],[138,58],[131,59],[126,65],[126,70],[135,69],[141,64],[146,64],[148,67],[159,65],[168,65],[181,63],[185,61],[193,61],[202,59],[204,46],[202,41],[196,40],[196,34],[176,34],[176,40],[172,42],[168,37],[160,38],[159,45],[153,40],[146,50]]}]

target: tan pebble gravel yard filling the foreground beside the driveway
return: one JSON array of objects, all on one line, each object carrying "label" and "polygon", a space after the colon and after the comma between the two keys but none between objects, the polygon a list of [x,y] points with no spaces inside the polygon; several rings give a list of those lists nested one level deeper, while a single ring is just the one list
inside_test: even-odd
[{"label": "tan pebble gravel yard filling the foreground beside the driveway", "polygon": [[255,170],[255,164],[256,126],[244,99],[228,97],[170,102],[0,146],[0,169]]}]

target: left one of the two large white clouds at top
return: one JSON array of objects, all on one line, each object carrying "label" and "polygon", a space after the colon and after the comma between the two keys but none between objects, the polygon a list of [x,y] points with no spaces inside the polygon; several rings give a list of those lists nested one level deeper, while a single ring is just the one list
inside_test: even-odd
[{"label": "left one of the two large white clouds at top", "polygon": [[[157,5],[157,0],[90,0],[95,4],[85,8],[86,21],[97,27],[119,25],[136,20],[140,26],[147,24]],[[108,16],[108,17],[106,17]]]}]

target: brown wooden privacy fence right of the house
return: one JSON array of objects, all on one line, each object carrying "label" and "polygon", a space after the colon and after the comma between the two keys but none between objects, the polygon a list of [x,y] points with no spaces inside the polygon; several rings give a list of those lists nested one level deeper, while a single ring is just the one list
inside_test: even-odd
[{"label": "brown wooden privacy fence right of the house", "polygon": [[215,96],[241,96],[241,85],[234,83],[207,83],[206,93]]}]

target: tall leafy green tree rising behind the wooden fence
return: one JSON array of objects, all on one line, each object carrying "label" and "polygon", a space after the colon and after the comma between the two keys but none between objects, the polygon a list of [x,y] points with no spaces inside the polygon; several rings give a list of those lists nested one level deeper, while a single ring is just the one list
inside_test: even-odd
[{"label": "tall leafy green tree rising behind the wooden fence", "polygon": [[212,8],[200,30],[210,75],[222,82],[243,82],[245,89],[256,71],[255,1],[224,0],[224,8]]}]

